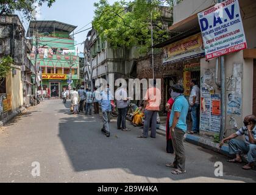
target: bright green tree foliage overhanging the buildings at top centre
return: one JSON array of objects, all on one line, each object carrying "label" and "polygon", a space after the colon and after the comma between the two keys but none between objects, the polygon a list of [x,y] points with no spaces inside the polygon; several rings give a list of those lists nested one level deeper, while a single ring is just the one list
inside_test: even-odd
[{"label": "bright green tree foliage overhanging the buildings at top centre", "polygon": [[163,20],[159,19],[160,5],[163,1],[116,1],[110,5],[106,0],[100,0],[94,4],[93,27],[113,48],[139,46],[140,52],[147,52],[151,46],[151,12],[154,42],[168,38]]}]

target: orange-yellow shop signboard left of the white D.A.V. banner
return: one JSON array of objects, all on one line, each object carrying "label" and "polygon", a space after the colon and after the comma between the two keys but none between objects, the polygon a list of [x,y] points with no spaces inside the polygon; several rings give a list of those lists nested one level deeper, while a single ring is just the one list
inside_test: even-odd
[{"label": "orange-yellow shop signboard left of the white D.A.V. banner", "polygon": [[181,60],[204,56],[201,34],[196,34],[164,48],[163,63],[175,63]]}]

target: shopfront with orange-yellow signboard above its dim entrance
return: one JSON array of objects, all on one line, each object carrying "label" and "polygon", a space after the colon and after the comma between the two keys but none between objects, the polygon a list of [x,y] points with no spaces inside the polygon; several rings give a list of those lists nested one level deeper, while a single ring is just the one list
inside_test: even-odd
[{"label": "shopfront with orange-yellow signboard above its dim entrance", "polygon": [[163,66],[169,71],[164,73],[166,99],[169,98],[168,89],[174,83],[180,83],[185,88],[185,96],[189,98],[191,79],[196,79],[200,85],[200,59],[204,57],[201,34],[192,35],[176,41],[164,48]]}]

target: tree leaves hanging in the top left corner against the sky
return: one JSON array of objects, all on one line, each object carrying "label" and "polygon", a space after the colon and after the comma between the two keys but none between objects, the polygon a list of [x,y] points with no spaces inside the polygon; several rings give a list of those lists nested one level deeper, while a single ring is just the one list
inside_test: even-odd
[{"label": "tree leaves hanging in the top left corner against the sky", "polygon": [[55,2],[55,0],[0,0],[0,14],[13,14],[16,10],[23,12],[27,20],[33,19],[32,12],[37,6],[47,3],[48,7]]}]

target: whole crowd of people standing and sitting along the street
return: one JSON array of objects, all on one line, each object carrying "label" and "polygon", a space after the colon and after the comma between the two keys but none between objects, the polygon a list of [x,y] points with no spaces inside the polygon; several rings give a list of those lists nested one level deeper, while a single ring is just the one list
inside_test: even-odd
[{"label": "whole crowd of people standing and sitting along the street", "polygon": [[[112,114],[113,99],[114,96],[110,91],[109,85],[106,85],[102,91],[98,91],[94,88],[84,90],[84,87],[80,87],[77,91],[71,93],[71,110],[74,114],[83,112],[85,115],[92,115],[92,107],[94,105],[94,114],[99,114],[99,105],[102,110],[102,132],[107,137],[110,137],[110,115]],[[200,117],[200,88],[197,85],[197,81],[191,80],[191,94],[187,100],[183,95],[184,88],[182,85],[176,84],[169,89],[169,95],[171,98],[166,102],[166,152],[174,154],[174,161],[166,164],[168,168],[173,168],[172,174],[184,174],[185,169],[185,147],[183,144],[185,133],[199,133],[199,117]],[[151,130],[150,137],[157,137],[157,125],[159,123],[161,91],[154,85],[149,85],[144,101],[139,104],[130,104],[130,100],[127,96],[127,86],[119,85],[118,90],[115,92],[115,99],[118,108],[117,129],[122,131],[130,131],[126,126],[126,118],[128,117],[133,126],[141,126],[143,131],[137,138],[148,138],[149,130]],[[63,94],[63,101],[65,100],[65,94]],[[128,115],[127,108],[132,107],[133,113]],[[188,131],[187,116],[191,112],[191,119],[193,127],[191,131]],[[241,153],[248,155],[249,163],[243,166],[243,169],[252,169],[256,157],[256,117],[247,116],[244,119],[244,127],[238,132],[230,135],[221,141],[220,147],[229,141],[230,154],[236,155],[236,158],[229,160],[232,163],[241,163]],[[246,141],[236,140],[236,137],[245,135]]]}]

